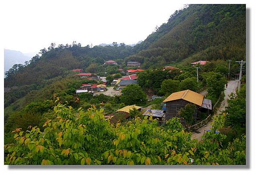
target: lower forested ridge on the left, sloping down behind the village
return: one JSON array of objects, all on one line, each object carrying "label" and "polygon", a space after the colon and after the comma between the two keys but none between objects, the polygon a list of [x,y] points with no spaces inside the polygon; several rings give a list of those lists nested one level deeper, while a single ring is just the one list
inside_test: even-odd
[{"label": "lower forested ridge on the left, sloping down behind the village", "polygon": [[103,64],[109,59],[123,59],[134,54],[128,45],[117,46],[89,46],[80,44],[54,44],[41,50],[42,56],[34,56],[26,65],[17,65],[11,68],[5,78],[5,87],[41,84],[42,81],[56,76],[66,75],[74,68],[87,68],[91,63]]}]

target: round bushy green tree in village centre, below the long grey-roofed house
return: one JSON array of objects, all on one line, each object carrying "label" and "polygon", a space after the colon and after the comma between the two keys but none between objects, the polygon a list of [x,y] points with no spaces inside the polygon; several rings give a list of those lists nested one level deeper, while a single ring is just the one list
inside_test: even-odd
[{"label": "round bushy green tree in village centre, below the long grey-roofed house", "polygon": [[141,104],[146,102],[146,94],[143,92],[139,85],[128,85],[122,90],[122,95],[120,97],[121,102],[131,105],[131,104]]}]

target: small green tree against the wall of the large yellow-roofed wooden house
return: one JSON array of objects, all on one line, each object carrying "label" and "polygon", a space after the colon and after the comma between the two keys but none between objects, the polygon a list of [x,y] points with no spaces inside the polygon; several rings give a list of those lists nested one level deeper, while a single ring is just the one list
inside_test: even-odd
[{"label": "small green tree against the wall of the large yellow-roofed wooden house", "polygon": [[183,117],[187,124],[194,124],[194,115],[195,115],[196,105],[188,103],[184,108],[180,110],[180,117]]}]

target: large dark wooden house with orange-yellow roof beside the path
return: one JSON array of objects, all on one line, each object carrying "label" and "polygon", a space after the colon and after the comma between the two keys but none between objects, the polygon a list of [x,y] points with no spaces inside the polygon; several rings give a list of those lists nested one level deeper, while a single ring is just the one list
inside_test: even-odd
[{"label": "large dark wooden house with orange-yellow roof beside the path", "polygon": [[[204,96],[196,93],[192,90],[183,90],[180,92],[172,93],[163,102],[166,102],[166,120],[172,119],[173,117],[180,117],[180,110],[185,107],[186,104],[195,104],[197,109],[194,114],[194,119],[199,119],[199,113],[204,110],[212,109],[212,101],[204,99]],[[185,124],[183,118],[180,118],[182,124]]]}]

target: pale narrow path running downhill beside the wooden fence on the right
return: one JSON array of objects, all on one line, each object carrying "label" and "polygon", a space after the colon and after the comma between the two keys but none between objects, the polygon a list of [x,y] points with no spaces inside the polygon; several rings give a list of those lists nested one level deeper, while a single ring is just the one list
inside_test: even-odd
[{"label": "pale narrow path running downhill beside the wooden fence on the right", "polygon": [[[218,108],[216,115],[220,114],[221,111],[225,110],[225,107],[227,106],[227,99],[230,99],[229,95],[230,93],[236,93],[236,88],[238,86],[238,80],[232,80],[228,82],[227,88],[225,89],[224,93],[224,100],[221,102],[221,106]],[[201,137],[204,135],[205,130],[209,130],[211,126],[212,120],[208,121],[207,124],[205,124],[203,127],[199,128],[195,132],[192,133],[191,138],[197,138],[198,141],[201,140]]]}]

